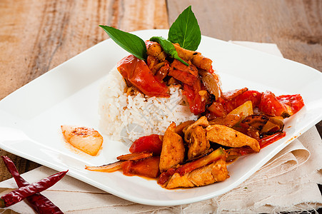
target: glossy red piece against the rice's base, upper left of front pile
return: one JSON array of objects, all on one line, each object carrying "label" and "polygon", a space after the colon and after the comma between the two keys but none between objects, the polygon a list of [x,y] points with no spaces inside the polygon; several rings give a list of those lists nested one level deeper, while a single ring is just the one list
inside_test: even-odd
[{"label": "glossy red piece against the rice's base, upper left of front pile", "polygon": [[143,136],[130,147],[130,153],[151,152],[154,156],[160,156],[162,150],[162,141],[159,135]]}]

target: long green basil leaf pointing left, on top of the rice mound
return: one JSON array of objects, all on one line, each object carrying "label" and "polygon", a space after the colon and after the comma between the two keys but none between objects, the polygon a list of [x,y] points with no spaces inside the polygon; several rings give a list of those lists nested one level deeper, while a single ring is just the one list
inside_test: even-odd
[{"label": "long green basil leaf pointing left, on top of the rice mound", "polygon": [[145,60],[146,56],[146,44],[144,41],[134,34],[130,34],[119,29],[114,29],[111,26],[100,25],[109,37],[113,39],[116,44],[121,46],[122,49],[128,51],[130,54],[133,54],[136,58]]}]

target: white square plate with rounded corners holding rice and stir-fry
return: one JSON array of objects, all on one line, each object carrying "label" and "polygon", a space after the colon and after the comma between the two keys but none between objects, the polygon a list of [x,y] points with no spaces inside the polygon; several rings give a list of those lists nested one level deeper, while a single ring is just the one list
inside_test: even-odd
[{"label": "white square plate with rounded corners holding rice and stir-fry", "polygon": [[[167,30],[134,32],[141,39],[167,37]],[[223,91],[248,87],[276,95],[301,93],[306,104],[286,120],[286,137],[260,153],[238,158],[228,165],[230,178],[200,188],[166,190],[156,180],[99,173],[84,165],[103,165],[129,153],[123,143],[104,141],[99,156],[75,153],[66,145],[60,126],[76,125],[99,131],[99,84],[124,56],[107,39],[62,63],[0,101],[0,148],[69,175],[126,200],[146,205],[181,205],[206,200],[235,188],[269,161],[294,138],[322,118],[322,74],[301,63],[254,51],[226,41],[202,37],[198,51],[213,60]],[[113,124],[111,124],[113,126]],[[104,136],[106,138],[106,136]]]}]

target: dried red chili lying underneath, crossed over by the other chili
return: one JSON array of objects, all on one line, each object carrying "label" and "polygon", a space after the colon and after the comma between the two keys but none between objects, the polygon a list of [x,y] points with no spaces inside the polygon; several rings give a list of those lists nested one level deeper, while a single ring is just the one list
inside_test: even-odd
[{"label": "dried red chili lying underneath, crossed over by the other chili", "polygon": [[[22,178],[18,170],[16,169],[16,165],[14,165],[14,162],[11,161],[9,157],[1,156],[1,158],[4,160],[4,165],[6,165],[6,168],[9,170],[9,173],[14,177],[14,180],[16,180],[16,184],[19,188],[29,185],[29,183]],[[44,214],[44,213],[63,213],[59,207],[54,205],[54,203],[51,202],[48,198],[46,198],[44,195],[41,195],[41,193],[36,193],[34,195],[31,195],[26,198],[28,200],[29,204],[34,208],[34,210],[37,213]]]}]

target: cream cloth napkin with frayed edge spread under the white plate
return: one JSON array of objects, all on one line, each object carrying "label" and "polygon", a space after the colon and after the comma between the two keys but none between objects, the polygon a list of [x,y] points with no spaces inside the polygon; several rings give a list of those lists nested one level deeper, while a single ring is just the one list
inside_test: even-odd
[{"label": "cream cloth napkin with frayed edge spread under the white plate", "polygon": [[[276,44],[230,41],[282,56]],[[140,205],[65,176],[43,192],[64,213],[278,213],[322,208],[322,140],[314,126],[303,133],[237,188],[189,205]],[[41,166],[22,176],[32,183],[56,171]],[[0,195],[16,188],[13,178],[0,183]],[[25,202],[0,211],[34,213]]]}]

